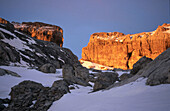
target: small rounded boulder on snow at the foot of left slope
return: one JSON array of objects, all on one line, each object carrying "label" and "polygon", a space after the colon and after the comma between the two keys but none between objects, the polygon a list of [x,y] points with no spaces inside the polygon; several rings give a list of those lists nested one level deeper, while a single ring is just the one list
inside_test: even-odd
[{"label": "small rounded boulder on snow at the foot of left slope", "polygon": [[44,64],[43,66],[41,66],[39,68],[40,71],[44,72],[44,73],[55,73],[56,72],[56,68],[54,65],[52,64]]}]

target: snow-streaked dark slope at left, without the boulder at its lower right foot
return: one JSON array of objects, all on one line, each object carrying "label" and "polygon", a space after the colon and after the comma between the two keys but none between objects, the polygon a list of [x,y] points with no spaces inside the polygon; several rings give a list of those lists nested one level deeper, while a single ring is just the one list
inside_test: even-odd
[{"label": "snow-streaked dark slope at left, without the boulder at its lower right foot", "polygon": [[61,68],[64,64],[73,65],[79,62],[69,49],[32,38],[16,30],[8,21],[0,20],[0,65],[35,68],[46,63]]}]

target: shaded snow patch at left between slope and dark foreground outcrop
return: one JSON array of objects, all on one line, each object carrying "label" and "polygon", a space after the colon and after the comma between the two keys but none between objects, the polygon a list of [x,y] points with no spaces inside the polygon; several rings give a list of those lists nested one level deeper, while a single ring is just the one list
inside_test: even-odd
[{"label": "shaded snow patch at left between slope and dark foreground outcrop", "polygon": [[16,72],[21,76],[0,76],[0,98],[9,97],[8,94],[10,93],[11,87],[24,80],[32,80],[41,83],[43,86],[51,87],[54,81],[62,79],[62,69],[57,69],[55,74],[49,74],[24,67],[0,66],[0,68]]}]

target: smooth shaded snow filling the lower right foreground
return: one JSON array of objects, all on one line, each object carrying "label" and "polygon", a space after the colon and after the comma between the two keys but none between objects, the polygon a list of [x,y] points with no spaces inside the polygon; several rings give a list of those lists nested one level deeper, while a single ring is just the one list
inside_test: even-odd
[{"label": "smooth shaded snow filling the lower right foreground", "polygon": [[[48,111],[170,111],[170,84],[146,86],[146,79],[87,93],[89,87],[72,90],[55,101]],[[83,91],[81,91],[83,90]]]}]

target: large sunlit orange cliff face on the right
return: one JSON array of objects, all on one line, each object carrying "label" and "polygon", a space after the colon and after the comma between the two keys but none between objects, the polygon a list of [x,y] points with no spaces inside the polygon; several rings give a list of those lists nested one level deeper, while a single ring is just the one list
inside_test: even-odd
[{"label": "large sunlit orange cliff face on the right", "polygon": [[119,32],[94,33],[82,49],[82,59],[105,66],[132,69],[141,57],[155,59],[170,47],[170,24],[153,32],[125,35]]}]

